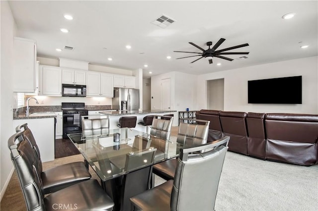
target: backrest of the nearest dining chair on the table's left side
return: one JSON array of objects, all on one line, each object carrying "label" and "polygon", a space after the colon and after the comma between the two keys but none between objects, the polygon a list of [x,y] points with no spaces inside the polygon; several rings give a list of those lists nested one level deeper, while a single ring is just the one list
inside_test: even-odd
[{"label": "backrest of the nearest dining chair on the table's left side", "polygon": [[[26,202],[27,210],[45,210],[43,185],[34,163],[33,149],[23,136],[24,131],[12,135],[8,140],[11,159]],[[16,142],[18,143],[16,144]]]}]

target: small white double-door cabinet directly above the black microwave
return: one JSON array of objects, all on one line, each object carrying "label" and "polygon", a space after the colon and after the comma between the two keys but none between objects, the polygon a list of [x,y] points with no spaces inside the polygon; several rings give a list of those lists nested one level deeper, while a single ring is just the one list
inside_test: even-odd
[{"label": "small white double-door cabinet directly above the black microwave", "polygon": [[62,84],[86,85],[86,72],[63,67]]}]

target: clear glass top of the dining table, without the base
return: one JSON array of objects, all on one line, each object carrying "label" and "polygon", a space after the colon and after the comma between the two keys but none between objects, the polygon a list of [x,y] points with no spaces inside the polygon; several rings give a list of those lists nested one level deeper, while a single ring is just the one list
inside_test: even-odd
[{"label": "clear glass top of the dining table, without the base", "polygon": [[102,181],[178,156],[181,144],[134,129],[68,134]]}]

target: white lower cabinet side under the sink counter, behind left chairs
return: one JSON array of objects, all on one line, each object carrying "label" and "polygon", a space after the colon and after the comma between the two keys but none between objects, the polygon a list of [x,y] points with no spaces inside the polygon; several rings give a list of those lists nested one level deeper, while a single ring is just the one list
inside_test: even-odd
[{"label": "white lower cabinet side under the sink counter, behind left chairs", "polygon": [[55,158],[54,118],[15,119],[13,129],[20,124],[27,123],[39,147],[42,162]]}]

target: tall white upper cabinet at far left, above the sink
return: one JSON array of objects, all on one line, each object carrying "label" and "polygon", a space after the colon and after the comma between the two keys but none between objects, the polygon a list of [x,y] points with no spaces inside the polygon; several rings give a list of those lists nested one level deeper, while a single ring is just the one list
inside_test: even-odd
[{"label": "tall white upper cabinet at far left, above the sink", "polygon": [[13,92],[34,93],[36,90],[36,42],[14,37]]}]

